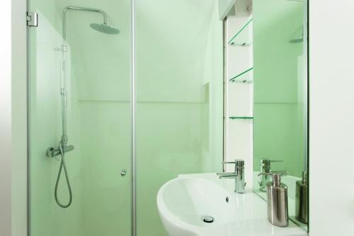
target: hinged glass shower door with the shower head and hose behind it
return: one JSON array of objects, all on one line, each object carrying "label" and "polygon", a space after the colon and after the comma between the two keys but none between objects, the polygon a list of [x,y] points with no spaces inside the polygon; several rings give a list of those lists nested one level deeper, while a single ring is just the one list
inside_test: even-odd
[{"label": "hinged glass shower door with the shower head and hose behind it", "polygon": [[131,1],[29,0],[28,11],[38,13],[28,28],[29,233],[130,235]]}]

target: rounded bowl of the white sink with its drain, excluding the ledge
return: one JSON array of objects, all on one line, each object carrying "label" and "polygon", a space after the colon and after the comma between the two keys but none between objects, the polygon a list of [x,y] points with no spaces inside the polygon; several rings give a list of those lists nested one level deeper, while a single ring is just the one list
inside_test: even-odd
[{"label": "rounded bowl of the white sink with its drain, excluding the ledge", "polygon": [[170,236],[207,235],[234,220],[236,203],[221,186],[198,178],[176,178],[157,195],[160,218]]}]

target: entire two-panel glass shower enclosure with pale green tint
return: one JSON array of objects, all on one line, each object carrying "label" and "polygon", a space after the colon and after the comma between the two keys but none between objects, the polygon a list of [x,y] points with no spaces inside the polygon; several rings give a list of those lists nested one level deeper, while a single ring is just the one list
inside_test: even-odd
[{"label": "entire two-panel glass shower enclosure with pale green tint", "polygon": [[217,1],[28,0],[28,11],[29,235],[166,236],[161,185],[222,168]]}]

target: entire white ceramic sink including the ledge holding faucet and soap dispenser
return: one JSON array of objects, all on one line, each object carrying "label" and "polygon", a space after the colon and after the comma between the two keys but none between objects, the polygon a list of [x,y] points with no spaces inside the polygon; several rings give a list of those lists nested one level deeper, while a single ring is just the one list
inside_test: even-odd
[{"label": "entire white ceramic sink including the ledge holding faucet and soap dispenser", "polygon": [[[157,194],[161,221],[170,236],[305,236],[294,223],[268,223],[266,203],[251,191],[234,193],[233,179],[187,174],[166,182]],[[214,222],[202,218],[211,216]]]}]

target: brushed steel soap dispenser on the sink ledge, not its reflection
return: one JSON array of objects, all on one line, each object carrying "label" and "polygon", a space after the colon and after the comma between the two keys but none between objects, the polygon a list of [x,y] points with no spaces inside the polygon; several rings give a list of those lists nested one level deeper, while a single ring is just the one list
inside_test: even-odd
[{"label": "brushed steel soap dispenser on the sink ledge, not its reflection", "polygon": [[286,227],[289,223],[287,212],[287,186],[281,183],[281,176],[285,173],[261,173],[270,175],[273,181],[267,183],[268,221],[272,225]]}]

